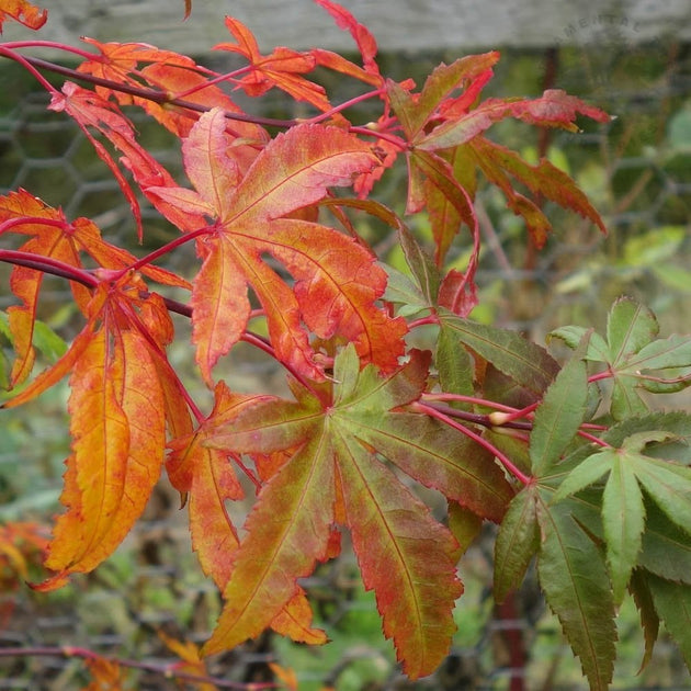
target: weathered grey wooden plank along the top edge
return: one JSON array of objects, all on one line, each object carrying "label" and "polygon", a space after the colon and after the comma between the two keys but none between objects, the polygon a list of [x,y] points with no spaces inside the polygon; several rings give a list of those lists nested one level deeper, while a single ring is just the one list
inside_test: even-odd
[{"label": "weathered grey wooden plank along the top edge", "polygon": [[[185,54],[206,54],[228,41],[224,14],[246,22],[262,48],[287,45],[344,50],[348,33],[310,0],[193,0],[183,22],[183,0],[44,0],[49,21],[43,37],[75,43],[137,41]],[[612,43],[634,45],[691,39],[688,0],[342,0],[374,33],[382,50]],[[4,39],[31,32],[5,25]]]}]

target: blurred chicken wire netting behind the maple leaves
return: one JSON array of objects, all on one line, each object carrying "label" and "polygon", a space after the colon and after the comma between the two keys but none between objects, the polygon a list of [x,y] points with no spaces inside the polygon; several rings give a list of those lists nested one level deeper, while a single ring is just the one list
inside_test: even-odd
[{"label": "blurred chicken wire netting behind the maple leaves", "polygon": [[[492,136],[529,159],[548,156],[566,168],[602,213],[610,234],[602,237],[590,224],[545,205],[555,233],[543,250],[533,251],[521,222],[507,212],[501,196],[484,190],[477,201],[485,242],[478,317],[519,328],[543,342],[558,325],[601,327],[612,299],[627,293],[645,301],[664,329],[688,332],[691,47],[671,41],[637,46],[630,45],[625,35],[591,33],[581,43],[506,52],[492,95],[536,95],[544,88],[564,88],[616,118],[607,126],[584,123],[585,131],[578,135],[540,135],[506,123]],[[440,59],[455,57],[407,56],[401,66],[399,57],[384,56],[384,63],[394,76],[410,65],[424,75]],[[0,83],[2,192],[22,186],[52,205],[61,205],[68,217],[89,216],[106,239],[135,253],[172,237],[173,230],[145,208],[145,242],[138,246],[117,183],[82,133],[60,114],[48,112],[45,94],[32,93],[13,66],[0,67]],[[333,88],[338,91],[339,84]],[[280,100],[272,100],[267,114],[294,114],[282,113],[282,107]],[[149,148],[179,172],[172,140],[145,121],[136,122]],[[381,188],[387,202],[400,207],[401,173],[387,175]],[[411,223],[424,234],[424,227],[416,226],[421,222]],[[389,251],[388,242],[382,237],[378,249]],[[467,247],[461,241],[454,252],[451,261],[462,267]],[[169,268],[185,273],[193,259],[183,256],[173,261]],[[5,286],[9,271],[0,267]],[[11,304],[7,290],[0,301],[2,309]],[[41,317],[66,338],[73,333],[75,311],[69,305],[65,283],[47,280]],[[188,328],[182,318],[175,326],[181,332]],[[171,360],[192,374],[184,347],[173,347]],[[281,373],[249,350],[231,356],[224,366],[234,388],[283,390]],[[201,388],[194,393],[201,398],[207,395]],[[2,412],[1,522],[48,522],[59,510],[63,461],[69,452],[66,395],[64,386],[56,387],[23,409]],[[437,509],[443,511],[443,507]],[[241,511],[242,507],[237,518]],[[578,664],[546,611],[533,575],[505,605],[492,603],[492,528],[487,526],[463,557],[460,569],[466,592],[456,615],[458,634],[451,655],[429,679],[407,682],[397,672],[373,599],[363,592],[348,550],[304,584],[332,639],[329,645],[305,648],[268,634],[215,658],[209,673],[229,684],[260,683],[273,679],[268,662],[279,661],[293,668],[308,689],[585,688]],[[127,688],[154,690],[201,688],[185,687],[185,682],[159,673],[173,659],[163,637],[203,642],[219,611],[219,598],[196,565],[179,498],[162,480],[144,520],[93,574],[76,578],[67,589],[49,596],[20,587],[0,594],[0,646],[36,650],[33,656],[0,658],[0,689],[86,687],[89,677],[81,660],[42,654],[69,645],[138,661],[141,668],[133,670]],[[635,611],[623,611],[614,688],[691,688],[683,662],[665,635],[653,661],[636,676],[643,650],[637,626]]]}]

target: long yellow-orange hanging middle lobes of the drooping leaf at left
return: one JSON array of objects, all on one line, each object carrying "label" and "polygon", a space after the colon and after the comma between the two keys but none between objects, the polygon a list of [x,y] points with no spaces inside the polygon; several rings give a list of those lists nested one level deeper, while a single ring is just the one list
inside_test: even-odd
[{"label": "long yellow-orange hanging middle lobes of the drooping leaf at left", "polygon": [[98,332],[70,377],[70,430],[61,501],[42,589],[89,571],[107,557],[140,516],[160,474],[163,397],[148,346],[132,331]]}]

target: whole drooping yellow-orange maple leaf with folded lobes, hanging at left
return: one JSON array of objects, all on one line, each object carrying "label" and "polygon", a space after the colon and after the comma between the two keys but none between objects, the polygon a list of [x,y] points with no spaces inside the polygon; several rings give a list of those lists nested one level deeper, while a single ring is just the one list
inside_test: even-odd
[{"label": "whole drooping yellow-orange maple leaf with folded lobes, hanging at left", "polygon": [[102,281],[86,311],[87,325],[63,358],[4,404],[25,403],[70,375],[72,453],[60,496],[67,511],[45,562],[56,574],[37,586],[42,590],[110,556],[160,475],[167,418],[179,433],[190,429],[165,356],[172,322],[162,298],[125,272],[114,283]]}]

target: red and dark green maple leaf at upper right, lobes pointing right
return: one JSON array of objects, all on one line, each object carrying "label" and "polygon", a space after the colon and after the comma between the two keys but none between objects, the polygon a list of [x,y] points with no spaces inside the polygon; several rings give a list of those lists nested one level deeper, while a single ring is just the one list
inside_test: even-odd
[{"label": "red and dark green maple leaf at upper right, lobes pointing right", "polygon": [[[537,247],[544,245],[551,224],[536,203],[513,189],[510,178],[604,229],[598,212],[568,175],[547,160],[530,166],[483,135],[507,117],[575,132],[578,115],[597,122],[608,122],[609,115],[560,90],[547,90],[537,99],[487,99],[475,104],[498,57],[497,53],[487,53],[442,65],[419,94],[387,82],[392,107],[410,143],[408,212],[423,206],[430,211],[439,265],[461,224],[473,230],[477,241],[477,219],[468,203],[475,194],[477,170],[505,192],[509,207],[523,216]],[[460,86],[464,87],[463,93],[449,98]],[[465,192],[458,194],[460,190]]]}]

